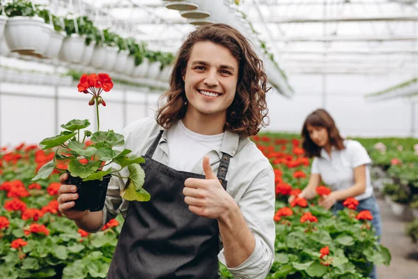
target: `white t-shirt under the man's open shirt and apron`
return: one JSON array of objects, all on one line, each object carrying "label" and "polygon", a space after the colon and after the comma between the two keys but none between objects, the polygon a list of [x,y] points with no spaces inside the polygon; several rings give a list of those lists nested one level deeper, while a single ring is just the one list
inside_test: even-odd
[{"label": "white t-shirt under the man's open shirt and apron", "polygon": [[191,172],[203,156],[211,150],[221,150],[224,133],[219,135],[200,135],[187,129],[179,120],[167,130],[169,144],[169,167]]}]

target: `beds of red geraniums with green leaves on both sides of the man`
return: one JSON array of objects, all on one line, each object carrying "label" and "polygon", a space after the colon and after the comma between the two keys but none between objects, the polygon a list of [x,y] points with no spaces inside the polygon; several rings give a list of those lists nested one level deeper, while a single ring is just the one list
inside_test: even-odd
[{"label": "beds of red geraniums with green leaves on both sides of the man", "polygon": [[[368,211],[347,199],[338,216],[297,197],[307,185],[310,161],[296,139],[254,137],[276,174],[275,261],[268,278],[366,278],[371,264],[389,264]],[[37,170],[54,156],[21,144],[0,150],[1,278],[105,278],[121,231],[121,216],[96,234],[78,229],[58,211],[59,172],[33,183]],[[63,164],[63,163],[61,163]],[[60,165],[65,169],[65,165]],[[330,189],[317,188],[319,195]],[[291,204],[289,195],[295,195]],[[232,278],[224,266],[221,278]]]}]

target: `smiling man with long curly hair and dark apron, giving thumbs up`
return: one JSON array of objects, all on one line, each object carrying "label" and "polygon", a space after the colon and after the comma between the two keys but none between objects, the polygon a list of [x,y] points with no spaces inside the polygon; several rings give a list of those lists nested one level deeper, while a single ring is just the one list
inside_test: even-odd
[{"label": "smiling man with long curly hair and dark apron, giving thumbs up", "polygon": [[[98,232],[125,218],[108,278],[265,278],[274,261],[274,172],[249,136],[265,122],[263,63],[226,24],[189,34],[155,119],[127,126],[124,149],[146,162],[149,202],[127,202],[112,176],[103,211],[74,213],[61,186],[60,211]],[[121,176],[126,176],[121,172]],[[62,183],[66,175],[61,177]]]}]

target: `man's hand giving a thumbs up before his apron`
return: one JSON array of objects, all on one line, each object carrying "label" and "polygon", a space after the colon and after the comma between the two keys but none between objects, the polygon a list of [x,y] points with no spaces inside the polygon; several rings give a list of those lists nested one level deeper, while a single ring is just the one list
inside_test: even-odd
[{"label": "man's hand giving a thumbs up before his apron", "polygon": [[185,203],[189,204],[190,211],[199,216],[222,218],[236,203],[217,179],[208,156],[203,158],[203,171],[206,179],[186,179],[183,189]]}]

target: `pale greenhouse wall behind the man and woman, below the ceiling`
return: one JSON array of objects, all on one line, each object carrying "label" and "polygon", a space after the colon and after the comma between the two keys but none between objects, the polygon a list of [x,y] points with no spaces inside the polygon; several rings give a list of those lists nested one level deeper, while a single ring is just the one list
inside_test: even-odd
[{"label": "pale greenhouse wall behind the man and woman, below the ceiling", "polygon": [[[289,99],[274,91],[268,93],[270,126],[263,130],[300,133],[295,128],[302,128],[305,117],[325,107],[343,135],[418,137],[416,101],[414,112],[411,100],[370,102],[364,98],[369,91],[403,79],[396,75],[291,75],[289,81],[295,96]],[[75,86],[59,86],[57,90],[55,98],[54,86],[0,84],[0,144],[37,143],[59,133],[59,126],[74,118],[90,119],[95,127],[95,107],[88,106],[88,96],[79,93]],[[103,95],[107,106],[100,107],[100,128],[121,132],[127,123],[153,116],[159,96],[123,92],[115,86]]]}]

